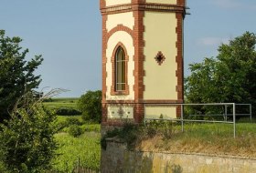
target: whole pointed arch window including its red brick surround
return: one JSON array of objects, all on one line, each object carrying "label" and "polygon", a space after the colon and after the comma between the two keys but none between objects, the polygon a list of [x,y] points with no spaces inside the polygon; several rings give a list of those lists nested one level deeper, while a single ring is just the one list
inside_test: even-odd
[{"label": "whole pointed arch window including its red brick surround", "polygon": [[128,56],[122,43],[117,44],[112,55],[112,95],[128,95]]}]

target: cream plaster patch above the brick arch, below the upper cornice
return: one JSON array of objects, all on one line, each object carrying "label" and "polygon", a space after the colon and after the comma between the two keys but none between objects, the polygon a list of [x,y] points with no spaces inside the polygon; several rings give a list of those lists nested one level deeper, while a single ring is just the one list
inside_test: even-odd
[{"label": "cream plaster patch above the brick arch, below the upper cornice", "polygon": [[108,15],[107,31],[111,31],[116,25],[125,25],[133,30],[134,17],[133,12]]}]

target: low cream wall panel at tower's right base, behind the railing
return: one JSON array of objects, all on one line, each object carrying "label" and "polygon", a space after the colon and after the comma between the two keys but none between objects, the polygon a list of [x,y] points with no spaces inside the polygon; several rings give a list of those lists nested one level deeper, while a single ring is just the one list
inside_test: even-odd
[{"label": "low cream wall panel at tower's right base, behind the railing", "polygon": [[159,118],[163,115],[164,118],[176,118],[176,107],[145,107],[145,118]]}]

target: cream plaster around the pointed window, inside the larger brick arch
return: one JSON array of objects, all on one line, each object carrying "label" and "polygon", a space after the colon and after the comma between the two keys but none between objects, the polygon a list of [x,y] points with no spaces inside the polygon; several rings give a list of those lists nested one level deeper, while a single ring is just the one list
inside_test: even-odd
[{"label": "cream plaster around the pointed window, inside the larger brick arch", "polygon": [[[112,53],[115,48],[115,46],[119,43],[123,43],[123,46],[125,46],[127,54],[129,56],[129,62],[128,62],[128,85],[129,85],[129,95],[127,96],[111,96],[111,86],[112,86]],[[114,33],[108,43],[107,43],[107,64],[106,64],[106,70],[107,70],[107,78],[106,78],[106,85],[107,85],[107,92],[106,92],[106,99],[107,100],[133,100],[134,99],[134,91],[133,91],[133,85],[134,85],[134,76],[133,76],[133,70],[134,70],[134,46],[133,46],[133,37],[130,36],[128,33],[124,31],[118,31]]]}]

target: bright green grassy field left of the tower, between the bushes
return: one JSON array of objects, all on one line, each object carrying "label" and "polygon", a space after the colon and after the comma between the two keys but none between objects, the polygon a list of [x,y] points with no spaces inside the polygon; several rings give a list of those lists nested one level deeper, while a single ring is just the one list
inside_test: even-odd
[{"label": "bright green grassy field left of the tower, between the bushes", "polygon": [[[49,102],[44,102],[44,106],[49,109],[70,107],[77,109],[79,98],[52,98]],[[80,137],[72,137],[67,133],[69,127],[60,130],[55,138],[58,142],[57,158],[53,160],[56,172],[72,172],[78,166],[98,170],[101,158],[101,126],[84,122],[81,116],[57,116],[58,123],[67,121],[68,118],[79,119],[80,128],[83,134]],[[68,126],[68,125],[67,125]]]}]

